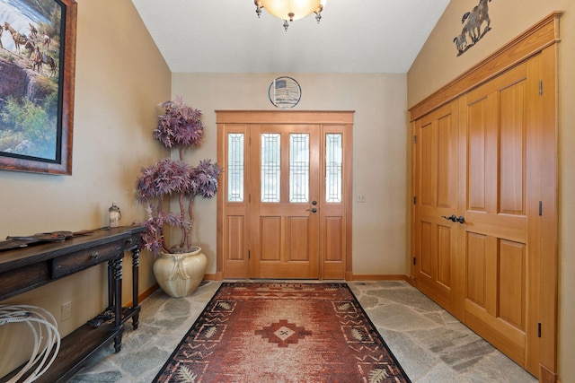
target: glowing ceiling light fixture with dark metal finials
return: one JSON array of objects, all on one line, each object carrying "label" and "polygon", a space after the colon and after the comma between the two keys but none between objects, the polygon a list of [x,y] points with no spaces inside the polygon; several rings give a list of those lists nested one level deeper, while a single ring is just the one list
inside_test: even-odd
[{"label": "glowing ceiling light fixture with dark metal finials", "polygon": [[319,23],[322,19],[322,11],[326,0],[254,0],[255,13],[261,16],[261,8],[284,21],[284,29],[288,31],[289,22],[303,19],[311,13],[315,13],[315,20]]}]

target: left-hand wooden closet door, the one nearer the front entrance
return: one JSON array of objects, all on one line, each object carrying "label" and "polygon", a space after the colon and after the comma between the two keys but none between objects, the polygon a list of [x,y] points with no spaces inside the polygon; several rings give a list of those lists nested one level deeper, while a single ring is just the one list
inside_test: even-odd
[{"label": "left-hand wooden closet door, the one nearer the front entrance", "polygon": [[453,309],[457,226],[457,102],[420,118],[414,126],[415,285]]}]

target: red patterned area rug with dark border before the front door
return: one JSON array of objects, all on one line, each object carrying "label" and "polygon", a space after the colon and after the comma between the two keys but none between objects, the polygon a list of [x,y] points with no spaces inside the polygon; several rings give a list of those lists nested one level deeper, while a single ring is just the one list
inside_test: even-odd
[{"label": "red patterned area rug with dark border before the front door", "polygon": [[410,382],[345,283],[222,283],[155,382]]}]

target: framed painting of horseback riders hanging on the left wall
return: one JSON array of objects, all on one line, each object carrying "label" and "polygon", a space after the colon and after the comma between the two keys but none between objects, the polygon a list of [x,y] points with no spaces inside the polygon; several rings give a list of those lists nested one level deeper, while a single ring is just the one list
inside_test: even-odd
[{"label": "framed painting of horseback riders hanging on the left wall", "polygon": [[0,0],[0,170],[72,174],[75,0]]}]

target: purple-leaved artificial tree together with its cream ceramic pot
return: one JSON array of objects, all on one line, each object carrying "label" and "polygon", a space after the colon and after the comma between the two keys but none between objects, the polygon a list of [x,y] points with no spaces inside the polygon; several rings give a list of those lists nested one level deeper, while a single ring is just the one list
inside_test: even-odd
[{"label": "purple-leaved artificial tree together with its cream ceramic pot", "polygon": [[[201,283],[207,264],[201,248],[191,245],[194,223],[193,203],[196,196],[211,198],[217,191],[217,177],[221,168],[209,160],[192,167],[183,161],[184,149],[199,146],[204,126],[201,112],[186,105],[180,97],[165,101],[154,130],[154,138],[168,149],[178,148],[179,158],[164,158],[142,168],[137,178],[137,198],[146,205],[147,220],[142,234],[144,247],[155,256],[154,274],[160,287],[168,295],[183,297],[194,292]],[[170,212],[170,205],[178,205]],[[170,245],[168,227],[181,233],[179,243]]]}]

